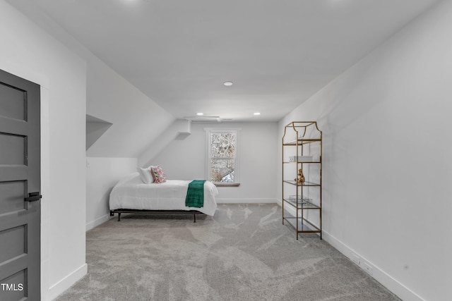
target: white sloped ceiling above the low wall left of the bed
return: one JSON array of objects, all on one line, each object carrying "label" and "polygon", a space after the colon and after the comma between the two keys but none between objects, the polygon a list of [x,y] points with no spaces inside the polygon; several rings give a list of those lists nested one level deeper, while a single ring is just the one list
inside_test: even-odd
[{"label": "white sloped ceiling above the low wall left of the bed", "polygon": [[87,66],[86,113],[112,125],[86,155],[138,157],[174,122],[174,116],[102,61],[89,56]]}]

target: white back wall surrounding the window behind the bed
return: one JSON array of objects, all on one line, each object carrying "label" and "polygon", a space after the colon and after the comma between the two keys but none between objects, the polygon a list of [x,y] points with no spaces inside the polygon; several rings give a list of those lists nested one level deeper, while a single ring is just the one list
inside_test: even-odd
[{"label": "white back wall surrounding the window behind the bed", "polygon": [[242,128],[238,145],[240,186],[219,187],[218,202],[275,202],[277,123],[192,123],[191,135],[184,140],[174,139],[153,159],[138,161],[162,166],[170,179],[205,179],[204,128],[214,127]]}]

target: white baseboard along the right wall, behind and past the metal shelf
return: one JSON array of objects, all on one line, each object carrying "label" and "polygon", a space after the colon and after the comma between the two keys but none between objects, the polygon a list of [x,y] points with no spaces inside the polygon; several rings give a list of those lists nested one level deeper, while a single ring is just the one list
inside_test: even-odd
[{"label": "white baseboard along the right wall, behind and past the metal shelf", "polygon": [[[282,206],[280,199],[277,199],[276,203]],[[290,211],[291,214],[295,214],[295,209],[293,209],[292,207],[288,206],[287,210]],[[369,262],[369,260],[367,260],[365,257],[362,257],[361,254],[358,254],[357,252],[355,252],[355,250],[352,250],[350,247],[345,245],[345,243],[341,242],[330,233],[323,230],[322,238],[336,250],[344,254],[348,259],[352,260],[352,262],[357,264],[357,266],[366,271],[367,274],[381,283],[381,285],[388,288],[388,290],[391,290],[392,293],[400,297],[400,299],[410,301],[424,301],[422,297],[407,288],[405,285],[403,285],[403,283],[400,283],[399,281],[391,277],[391,275],[380,269],[378,266],[375,266],[374,264]]]}]

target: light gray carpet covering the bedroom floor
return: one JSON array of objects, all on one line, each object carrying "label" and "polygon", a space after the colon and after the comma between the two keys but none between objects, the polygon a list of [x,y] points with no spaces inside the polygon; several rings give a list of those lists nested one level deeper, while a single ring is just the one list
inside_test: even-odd
[{"label": "light gray carpet covering the bedroom floor", "polygon": [[276,204],[123,214],[86,234],[88,274],[57,300],[399,300]]}]

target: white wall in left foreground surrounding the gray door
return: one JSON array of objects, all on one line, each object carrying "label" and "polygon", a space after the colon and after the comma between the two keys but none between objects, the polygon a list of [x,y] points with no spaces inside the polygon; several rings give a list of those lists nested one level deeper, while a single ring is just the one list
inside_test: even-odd
[{"label": "white wall in left foreground surrounding the gray door", "polygon": [[86,65],[0,0],[0,68],[41,89],[41,291],[50,300],[86,274]]}]

